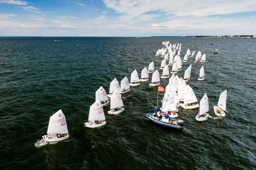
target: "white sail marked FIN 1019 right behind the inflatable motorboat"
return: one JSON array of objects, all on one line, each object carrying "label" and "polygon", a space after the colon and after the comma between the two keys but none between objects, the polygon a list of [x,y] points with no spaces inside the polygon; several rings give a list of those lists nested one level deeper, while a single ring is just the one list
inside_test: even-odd
[{"label": "white sail marked FIN 1019 right behind the inflatable motorboat", "polygon": [[176,110],[175,97],[169,91],[164,95],[163,102],[162,102],[162,112],[175,111],[175,110]]}]

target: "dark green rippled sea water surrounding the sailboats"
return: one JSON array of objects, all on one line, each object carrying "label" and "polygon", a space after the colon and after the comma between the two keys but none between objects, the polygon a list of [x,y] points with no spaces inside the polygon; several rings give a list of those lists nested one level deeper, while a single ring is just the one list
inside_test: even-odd
[{"label": "dark green rippled sea water surrounding the sailboats", "polygon": [[[155,53],[167,40],[182,43],[182,59],[187,49],[206,53],[207,62],[188,57],[177,75],[192,64],[188,84],[198,101],[207,94],[208,120],[181,109],[185,126],[177,131],[140,118],[157,101],[148,81],[122,95],[124,112],[104,107],[107,124],[85,128],[95,91],[108,93],[114,78],[130,79],[134,69],[140,76],[152,61],[159,69]],[[255,56],[256,39],[1,37],[0,169],[256,169]],[[225,89],[228,113],[217,118],[213,106]],[[49,115],[61,108],[71,137],[46,143]]]}]

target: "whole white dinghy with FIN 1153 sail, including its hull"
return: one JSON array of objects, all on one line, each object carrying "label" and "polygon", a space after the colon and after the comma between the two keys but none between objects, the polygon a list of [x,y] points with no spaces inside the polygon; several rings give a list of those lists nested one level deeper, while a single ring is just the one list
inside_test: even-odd
[{"label": "whole white dinghy with FIN 1153 sail, including its hull", "polygon": [[[117,90],[116,90],[117,91]],[[85,123],[87,128],[97,128],[106,125],[106,118],[100,101],[96,101],[90,106],[88,122]]]}]

